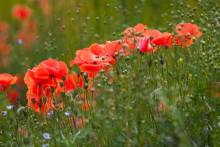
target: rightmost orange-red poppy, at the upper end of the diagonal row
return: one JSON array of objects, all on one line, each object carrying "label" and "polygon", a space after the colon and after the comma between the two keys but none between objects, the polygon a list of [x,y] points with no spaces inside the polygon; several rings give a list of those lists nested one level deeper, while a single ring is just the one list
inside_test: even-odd
[{"label": "rightmost orange-red poppy, at the upper end of the diagonal row", "polygon": [[175,41],[180,47],[189,47],[193,41],[202,36],[202,32],[196,24],[180,23],[176,25]]}]

